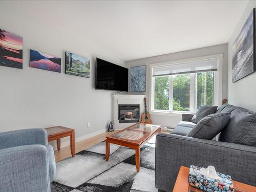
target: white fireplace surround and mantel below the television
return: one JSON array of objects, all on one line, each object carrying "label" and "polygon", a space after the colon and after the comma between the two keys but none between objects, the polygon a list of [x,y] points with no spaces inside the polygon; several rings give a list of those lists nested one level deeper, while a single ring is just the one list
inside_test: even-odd
[{"label": "white fireplace surround and mantel below the television", "polygon": [[145,95],[112,95],[112,120],[114,122],[115,130],[123,129],[127,126],[131,126],[134,123],[119,123],[118,120],[118,104],[139,104],[140,105],[140,120],[141,114],[144,112],[144,99]]}]

